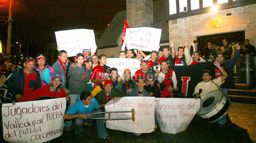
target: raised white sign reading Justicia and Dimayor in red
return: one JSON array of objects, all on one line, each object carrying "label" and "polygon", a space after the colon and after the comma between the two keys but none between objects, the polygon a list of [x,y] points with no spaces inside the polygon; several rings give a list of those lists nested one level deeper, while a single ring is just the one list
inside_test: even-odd
[{"label": "raised white sign reading Justicia and Dimayor in red", "polygon": [[128,50],[158,51],[161,31],[161,29],[151,27],[126,28],[126,47]]}]

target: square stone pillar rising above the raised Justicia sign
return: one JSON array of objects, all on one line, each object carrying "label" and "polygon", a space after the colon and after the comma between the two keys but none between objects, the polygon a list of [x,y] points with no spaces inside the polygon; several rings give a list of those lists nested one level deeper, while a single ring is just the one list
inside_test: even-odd
[{"label": "square stone pillar rising above the raised Justicia sign", "polygon": [[130,28],[153,27],[153,1],[126,0],[126,20]]}]

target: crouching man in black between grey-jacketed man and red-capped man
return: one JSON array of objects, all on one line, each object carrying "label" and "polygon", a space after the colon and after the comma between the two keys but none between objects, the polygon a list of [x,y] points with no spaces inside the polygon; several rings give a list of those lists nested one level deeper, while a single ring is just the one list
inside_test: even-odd
[{"label": "crouching man in black between grey-jacketed man and red-capped man", "polygon": [[150,96],[159,98],[160,97],[160,84],[155,82],[152,75],[146,78],[148,85],[144,86],[145,90],[150,94]]}]

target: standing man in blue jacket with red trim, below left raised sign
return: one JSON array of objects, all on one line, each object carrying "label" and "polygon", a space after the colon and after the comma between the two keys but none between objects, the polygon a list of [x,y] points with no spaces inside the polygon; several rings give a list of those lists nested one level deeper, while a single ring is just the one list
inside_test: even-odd
[{"label": "standing man in blue jacket with red trim, below left raised sign", "polygon": [[65,50],[60,50],[58,55],[58,60],[52,65],[55,75],[61,76],[61,85],[60,87],[65,91],[66,95],[70,93],[70,90],[66,88],[66,67],[68,66],[67,62],[68,54]]}]

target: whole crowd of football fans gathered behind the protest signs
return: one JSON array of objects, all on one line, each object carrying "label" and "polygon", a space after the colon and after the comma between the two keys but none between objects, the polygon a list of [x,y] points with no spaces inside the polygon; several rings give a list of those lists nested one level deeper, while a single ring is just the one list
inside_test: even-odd
[{"label": "whole crowd of football fans gathered behind the protest signs", "polygon": [[[177,87],[174,66],[213,62],[215,75],[210,75],[208,70],[200,69],[204,70],[203,81],[197,84],[193,96],[203,97],[210,91],[218,90],[218,86],[227,95],[228,89],[234,85],[232,69],[239,59],[240,46],[237,43],[234,57],[231,58],[232,48],[227,45],[225,39],[220,53],[208,43],[208,49],[201,54],[197,45],[198,42],[195,40],[188,48],[188,42],[184,42],[175,51],[174,42],[170,41],[170,48],[159,46],[158,51],[150,53],[148,60],[144,60],[147,55],[143,51],[121,51],[119,58],[135,57],[141,62],[141,69],[134,75],[130,69],[118,73],[116,67],[107,66],[107,57],[104,54],[93,54],[85,59],[82,53],[78,53],[74,61],[69,61],[67,52],[60,50],[58,59],[52,67],[46,64],[47,58],[44,54],[38,54],[35,59],[24,58],[23,67],[16,67],[13,63],[5,75],[7,80],[3,84],[12,95],[13,104],[65,97],[69,101],[64,115],[65,131],[71,130],[72,119],[75,119],[75,134],[82,136],[83,125],[90,125],[86,120],[86,114],[105,111],[104,106],[110,100],[118,101],[124,96],[185,98],[181,89]],[[252,54],[255,54],[255,47]],[[155,66],[159,66],[160,69],[154,69]],[[123,74],[123,77],[120,74]],[[202,93],[199,92],[200,89],[203,90]],[[97,117],[102,118],[102,114]],[[225,121],[226,118],[223,118],[218,123],[223,125]],[[97,133],[99,138],[110,138],[102,120],[97,120]]]}]

